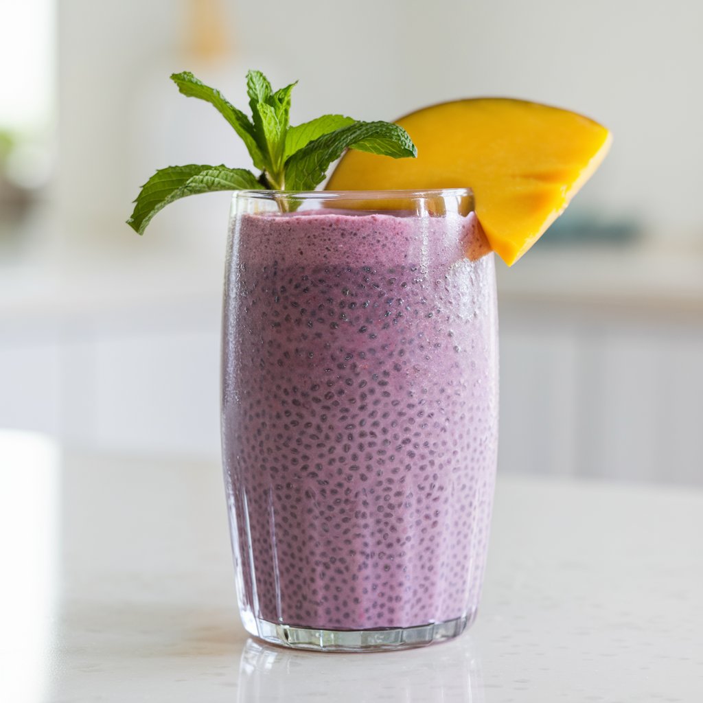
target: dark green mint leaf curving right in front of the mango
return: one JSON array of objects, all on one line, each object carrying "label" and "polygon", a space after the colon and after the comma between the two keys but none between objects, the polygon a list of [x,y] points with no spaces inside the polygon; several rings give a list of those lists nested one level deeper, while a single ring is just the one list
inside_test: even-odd
[{"label": "dark green mint leaf curving right in front of the mango", "polygon": [[415,157],[418,150],[408,133],[390,122],[354,122],[307,143],[285,162],[285,188],[311,191],[325,179],[329,165],[344,149],[359,149],[393,158]]}]

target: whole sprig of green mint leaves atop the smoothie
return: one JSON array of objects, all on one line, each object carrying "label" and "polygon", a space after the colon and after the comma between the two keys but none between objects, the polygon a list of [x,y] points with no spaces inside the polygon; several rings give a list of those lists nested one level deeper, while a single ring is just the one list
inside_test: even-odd
[{"label": "whole sprig of green mint leaves atop the smoothie", "polygon": [[142,186],[134,201],[134,212],[127,220],[139,234],[160,209],[187,195],[262,188],[314,190],[345,149],[396,159],[417,155],[407,132],[390,122],[359,122],[344,115],[323,115],[291,127],[290,97],[296,83],[273,91],[260,71],[247,73],[251,118],[190,72],[174,73],[171,79],[183,95],[200,98],[217,109],[244,141],[254,168],[261,174],[257,177],[246,169],[194,164],[160,169]]}]

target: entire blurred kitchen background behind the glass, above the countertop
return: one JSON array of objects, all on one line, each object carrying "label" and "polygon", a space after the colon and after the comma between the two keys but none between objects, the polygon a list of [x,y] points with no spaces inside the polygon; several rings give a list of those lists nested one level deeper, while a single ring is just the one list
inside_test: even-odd
[{"label": "entire blurred kitchen background behind the glass, above the countertop", "polygon": [[703,483],[698,0],[0,2],[0,427],[219,456],[229,195],[124,224],[157,167],[249,167],[192,70],[295,79],[292,121],[464,96],[595,117],[610,157],[501,298],[500,470]]}]

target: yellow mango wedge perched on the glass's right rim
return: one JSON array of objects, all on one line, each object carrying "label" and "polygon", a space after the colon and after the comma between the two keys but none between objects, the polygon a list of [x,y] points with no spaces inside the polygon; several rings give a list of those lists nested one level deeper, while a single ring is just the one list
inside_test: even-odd
[{"label": "yellow mango wedge perched on the glass's right rim", "polygon": [[612,141],[588,117],[508,98],[432,105],[397,123],[415,142],[416,159],[350,150],[326,188],[471,188],[491,249],[508,266],[559,217]]}]

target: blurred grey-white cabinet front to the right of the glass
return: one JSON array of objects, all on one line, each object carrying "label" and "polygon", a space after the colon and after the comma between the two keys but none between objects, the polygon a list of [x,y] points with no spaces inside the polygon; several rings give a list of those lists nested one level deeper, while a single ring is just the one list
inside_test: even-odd
[{"label": "blurred grey-white cabinet front to the right of the glass", "polygon": [[501,309],[502,470],[703,483],[703,325]]}]

